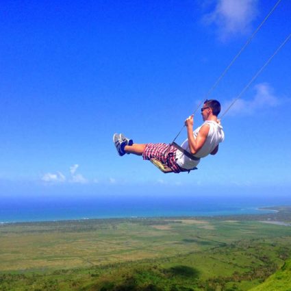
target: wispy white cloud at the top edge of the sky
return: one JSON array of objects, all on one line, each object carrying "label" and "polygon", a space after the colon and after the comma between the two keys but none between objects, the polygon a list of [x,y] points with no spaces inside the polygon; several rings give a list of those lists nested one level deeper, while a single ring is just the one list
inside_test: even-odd
[{"label": "wispy white cloud at the top edge of the sky", "polygon": [[214,11],[203,21],[217,27],[218,37],[225,40],[237,34],[246,34],[257,15],[257,0],[218,0]]}]

